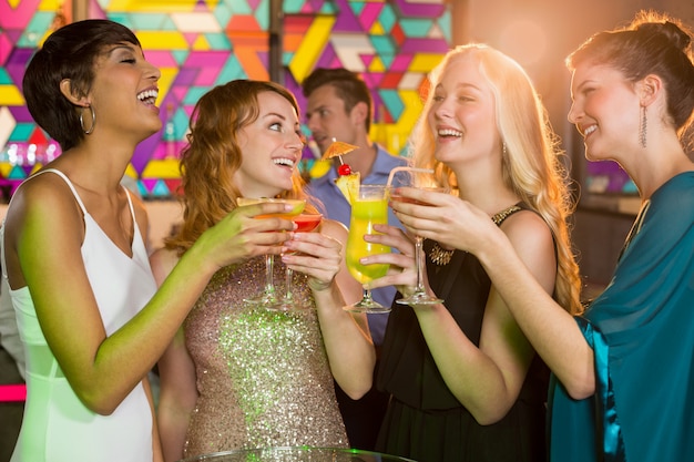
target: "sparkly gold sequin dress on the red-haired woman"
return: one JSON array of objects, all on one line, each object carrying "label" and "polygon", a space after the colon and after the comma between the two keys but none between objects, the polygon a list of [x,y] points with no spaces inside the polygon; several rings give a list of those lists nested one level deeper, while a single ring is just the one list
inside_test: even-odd
[{"label": "sparkly gold sequin dress on the red-haired woman", "polygon": [[[200,397],[184,455],[267,446],[348,446],[315,310],[244,304],[263,288],[264,258],[217,271],[185,324]],[[284,294],[284,265],[275,264]],[[297,298],[310,297],[294,275]]]}]

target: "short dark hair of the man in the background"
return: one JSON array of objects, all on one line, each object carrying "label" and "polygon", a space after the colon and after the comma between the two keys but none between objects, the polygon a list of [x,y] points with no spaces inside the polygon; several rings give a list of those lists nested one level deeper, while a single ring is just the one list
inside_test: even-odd
[{"label": "short dark hair of the man in the background", "polygon": [[302,91],[304,96],[308,97],[316,89],[324,85],[331,85],[335,89],[337,96],[345,102],[347,112],[351,111],[358,103],[366,103],[368,106],[366,130],[368,132],[374,116],[374,101],[369,88],[359,74],[344,68],[317,68],[304,79]]}]

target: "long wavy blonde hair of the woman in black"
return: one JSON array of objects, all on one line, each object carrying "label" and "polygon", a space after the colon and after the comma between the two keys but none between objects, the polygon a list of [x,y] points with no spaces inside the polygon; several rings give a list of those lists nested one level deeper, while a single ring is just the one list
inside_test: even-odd
[{"label": "long wavy blonde hair of the woman in black", "polygon": [[[435,86],[448,64],[461,55],[472,55],[496,99],[497,124],[504,154],[502,172],[506,185],[548,224],[554,236],[558,271],[554,298],[569,312],[581,310],[581,277],[570,243],[568,218],[573,212],[569,175],[561,163],[563,152],[551,129],[544,105],[525,71],[511,58],[486,44],[460,45],[448,52],[431,72]],[[456,188],[453,172],[433,155],[433,133],[427,123],[432,92],[425,102],[422,116],[410,137],[415,166],[433,168],[438,181]]]}]

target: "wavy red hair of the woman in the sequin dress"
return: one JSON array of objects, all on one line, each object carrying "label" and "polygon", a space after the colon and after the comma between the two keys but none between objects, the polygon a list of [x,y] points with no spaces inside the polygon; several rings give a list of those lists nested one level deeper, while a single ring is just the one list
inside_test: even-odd
[{"label": "wavy red hair of the woman in the sequin dress", "polygon": [[[165,240],[166,248],[188,249],[210,227],[237,207],[241,191],[234,173],[242,165],[239,131],[259,115],[258,94],[274,92],[299,113],[294,95],[284,86],[266,81],[234,80],[205,93],[191,115],[188,144],[181,152],[184,205],[183,223]],[[278,197],[305,198],[305,182],[297,171],[293,188]],[[308,203],[306,208],[314,211]]]}]

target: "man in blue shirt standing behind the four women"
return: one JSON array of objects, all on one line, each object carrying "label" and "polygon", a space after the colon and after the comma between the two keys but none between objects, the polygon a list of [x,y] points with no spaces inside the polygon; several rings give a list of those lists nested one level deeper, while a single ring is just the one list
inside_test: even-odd
[{"label": "man in blue shirt standing behind the four women", "polygon": [[[369,137],[374,103],[368,86],[355,72],[347,69],[318,68],[302,83],[306,96],[306,125],[322,153],[334,141],[358,146],[344,154],[341,160],[349,164],[353,173],[359,172],[363,184],[386,184],[394,167],[406,165],[407,160],[394,156]],[[349,226],[351,207],[335,184],[340,162],[333,160],[328,172],[308,185],[310,194],[324,205],[330,219]],[[388,222],[401,227],[391,209]],[[371,291],[374,299],[390,306],[395,298],[395,287],[381,287]],[[377,352],[384,340],[388,315],[368,315],[369,330]],[[371,389],[360,400],[351,400],[336,387],[337,400],[347,428],[349,442],[354,448],[372,450],[388,397]]]}]

